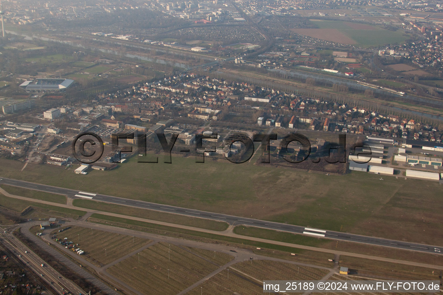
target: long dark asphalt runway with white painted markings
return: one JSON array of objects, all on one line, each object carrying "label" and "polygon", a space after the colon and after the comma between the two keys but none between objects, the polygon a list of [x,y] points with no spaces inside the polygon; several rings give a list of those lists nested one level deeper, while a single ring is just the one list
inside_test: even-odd
[{"label": "long dark asphalt runway with white painted markings", "polygon": [[51,193],[67,195],[68,197],[71,197],[73,199],[91,199],[106,203],[126,205],[126,206],[143,208],[154,211],[162,211],[162,212],[168,212],[180,215],[193,216],[198,218],[224,221],[228,222],[231,225],[256,226],[271,230],[286,231],[294,234],[304,234],[316,238],[328,238],[338,241],[352,241],[352,242],[358,242],[369,245],[391,247],[396,249],[407,249],[407,250],[426,252],[426,253],[443,254],[443,246],[423,245],[423,244],[406,242],[406,241],[375,238],[375,237],[369,237],[358,234],[349,234],[349,233],[343,233],[331,230],[320,230],[320,229],[308,228],[305,226],[296,226],[286,223],[270,222],[270,221],[264,221],[253,218],[243,218],[233,215],[199,211],[194,209],[150,203],[139,200],[124,199],[110,195],[96,194],[92,192],[83,192],[78,190],[72,190],[69,188],[59,188],[50,185],[35,184],[23,180],[3,178],[1,176],[0,176],[0,184],[8,184],[19,188],[34,189],[42,192],[51,192]]}]

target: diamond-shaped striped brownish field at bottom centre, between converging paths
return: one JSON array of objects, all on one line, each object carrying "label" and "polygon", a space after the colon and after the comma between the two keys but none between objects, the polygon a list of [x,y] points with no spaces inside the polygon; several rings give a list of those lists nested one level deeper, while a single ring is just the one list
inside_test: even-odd
[{"label": "diamond-shaped striped brownish field at bottom centre, between converging paths", "polygon": [[158,243],[106,271],[144,294],[168,295],[179,293],[232,259],[224,253],[216,253],[214,258],[212,251]]}]

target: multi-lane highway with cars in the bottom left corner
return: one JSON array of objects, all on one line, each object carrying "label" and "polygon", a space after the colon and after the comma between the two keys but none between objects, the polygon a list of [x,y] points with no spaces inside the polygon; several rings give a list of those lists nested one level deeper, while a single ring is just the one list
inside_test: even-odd
[{"label": "multi-lane highway with cars in the bottom left corner", "polygon": [[[73,294],[85,294],[80,287],[74,284],[71,280],[66,279],[54,268],[47,265],[43,259],[37,254],[27,248],[21,241],[13,238],[12,234],[9,234],[0,228],[1,237],[3,238],[3,244],[16,254],[16,258],[26,263],[36,274],[41,276],[51,287],[60,295],[67,292],[73,292]],[[43,267],[41,266],[43,264]]]}]

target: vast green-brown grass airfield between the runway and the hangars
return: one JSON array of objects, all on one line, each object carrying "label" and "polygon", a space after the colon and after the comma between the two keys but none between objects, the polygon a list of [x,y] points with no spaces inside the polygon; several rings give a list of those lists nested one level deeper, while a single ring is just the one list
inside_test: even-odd
[{"label": "vast green-brown grass airfield between the runway and the hangars", "polygon": [[[21,171],[21,162],[0,159],[0,165],[8,167],[4,177],[325,230],[443,244],[439,234],[443,207],[435,207],[441,204],[438,182],[390,176],[380,181],[379,176],[363,172],[326,176],[252,162],[195,163],[181,157],[172,157],[172,164],[162,162],[162,156],[158,164],[137,163],[133,157],[118,169],[80,176],[73,169],[49,165],[29,164]],[[426,195],[412,193],[417,187]]]}]

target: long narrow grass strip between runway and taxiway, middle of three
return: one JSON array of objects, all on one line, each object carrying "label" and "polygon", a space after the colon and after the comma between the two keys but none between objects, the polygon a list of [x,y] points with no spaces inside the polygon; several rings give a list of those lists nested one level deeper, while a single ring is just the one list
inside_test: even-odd
[{"label": "long narrow grass strip between runway and taxiway, middle of three", "polygon": [[76,207],[100,210],[110,213],[117,213],[122,215],[152,219],[163,222],[170,222],[185,226],[193,226],[208,230],[223,231],[228,228],[228,224],[226,222],[218,222],[203,218],[193,218],[177,214],[157,212],[152,210],[144,210],[144,209],[138,209],[122,205],[107,204],[91,200],[75,199],[73,201],[73,205]]}]

